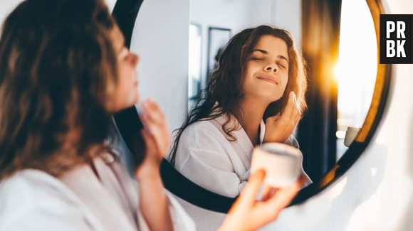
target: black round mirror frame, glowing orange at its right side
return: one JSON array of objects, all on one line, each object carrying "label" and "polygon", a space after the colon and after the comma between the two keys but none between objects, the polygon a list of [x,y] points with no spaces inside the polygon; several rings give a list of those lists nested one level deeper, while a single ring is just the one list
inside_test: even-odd
[{"label": "black round mirror frame, glowing orange at its right side", "polygon": [[[125,35],[127,41],[125,45],[130,46],[130,39],[132,31],[135,26],[137,13],[140,9],[143,0],[118,0],[113,9],[113,16],[117,20],[119,27]],[[296,198],[294,198],[291,205],[297,205],[305,202],[309,198],[317,195],[328,186],[332,185],[352,166],[355,161],[365,151],[367,145],[370,143],[372,136],[380,124],[382,114],[385,111],[387,102],[387,95],[390,90],[390,82],[392,79],[391,70],[392,65],[380,64],[380,14],[385,14],[380,0],[367,0],[367,5],[370,8],[372,18],[375,24],[376,38],[377,38],[377,77],[375,83],[375,91],[372,97],[372,104],[367,112],[367,117],[362,126],[360,134],[355,141],[350,145],[343,157],[335,164],[335,166],[325,173],[323,178],[311,184],[310,186],[300,190]],[[135,129],[140,128],[140,119],[138,117],[135,107],[130,107],[115,114],[115,122],[117,127],[125,140],[128,148],[132,147],[132,134]],[[189,181],[174,167],[172,167],[167,160],[163,160],[160,166],[162,181],[164,187],[171,193],[177,195],[179,198],[186,200],[189,203],[197,205],[206,210],[213,210],[219,213],[227,213],[236,198],[228,198],[223,195],[212,193],[197,184]]]}]

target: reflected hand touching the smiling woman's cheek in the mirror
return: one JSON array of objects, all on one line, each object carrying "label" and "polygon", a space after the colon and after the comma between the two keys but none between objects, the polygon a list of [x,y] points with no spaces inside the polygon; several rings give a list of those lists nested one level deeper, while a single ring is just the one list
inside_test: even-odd
[{"label": "reflected hand touching the smiling woman's cheek in the mirror", "polygon": [[268,117],[266,120],[266,132],[263,142],[284,143],[293,134],[294,129],[300,120],[300,109],[298,109],[296,94],[290,92],[288,103],[283,115]]}]

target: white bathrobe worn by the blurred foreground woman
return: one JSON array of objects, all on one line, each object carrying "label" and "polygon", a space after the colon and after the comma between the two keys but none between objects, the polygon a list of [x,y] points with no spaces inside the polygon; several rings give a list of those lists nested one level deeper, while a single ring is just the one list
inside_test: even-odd
[{"label": "white bathrobe worn by the blurred foreground woman", "polygon": [[[138,185],[125,166],[108,155],[61,178],[28,169],[0,182],[0,230],[149,230],[138,202]],[[194,222],[165,190],[174,230]]]}]

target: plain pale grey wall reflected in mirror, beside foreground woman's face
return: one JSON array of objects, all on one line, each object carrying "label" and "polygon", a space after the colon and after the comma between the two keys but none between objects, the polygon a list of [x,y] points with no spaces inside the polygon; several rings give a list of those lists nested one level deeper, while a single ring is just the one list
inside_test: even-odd
[{"label": "plain pale grey wall reflected in mirror, beside foreground woman's face", "polygon": [[141,101],[152,97],[169,129],[181,126],[187,108],[189,0],[146,0],[132,33]]}]

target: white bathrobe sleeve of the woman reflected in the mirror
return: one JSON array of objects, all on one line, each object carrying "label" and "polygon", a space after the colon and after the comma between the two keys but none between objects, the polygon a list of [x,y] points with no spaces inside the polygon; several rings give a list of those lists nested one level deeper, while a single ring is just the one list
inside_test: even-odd
[{"label": "white bathrobe sleeve of the woman reflected in the mirror", "polygon": [[249,176],[229,141],[208,121],[184,130],[175,168],[197,185],[231,198],[239,195]]}]

